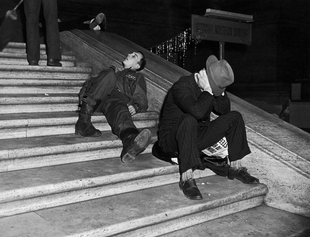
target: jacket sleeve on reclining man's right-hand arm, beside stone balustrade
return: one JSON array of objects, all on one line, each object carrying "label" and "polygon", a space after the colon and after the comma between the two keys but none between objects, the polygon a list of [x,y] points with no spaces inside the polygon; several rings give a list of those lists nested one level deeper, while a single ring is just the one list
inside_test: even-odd
[{"label": "jacket sleeve on reclining man's right-hand arm, beside stone balustrade", "polygon": [[136,74],[136,87],[132,94],[133,100],[129,104],[135,107],[137,113],[144,113],[148,110],[148,98],[146,96],[146,82],[144,75]]}]

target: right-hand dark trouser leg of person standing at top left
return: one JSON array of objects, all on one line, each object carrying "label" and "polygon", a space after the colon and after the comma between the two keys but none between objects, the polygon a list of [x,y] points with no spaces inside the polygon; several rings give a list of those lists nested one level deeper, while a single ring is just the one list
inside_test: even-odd
[{"label": "right-hand dark trouser leg of person standing at top left", "polygon": [[41,0],[46,25],[47,58],[61,60],[57,1]]}]

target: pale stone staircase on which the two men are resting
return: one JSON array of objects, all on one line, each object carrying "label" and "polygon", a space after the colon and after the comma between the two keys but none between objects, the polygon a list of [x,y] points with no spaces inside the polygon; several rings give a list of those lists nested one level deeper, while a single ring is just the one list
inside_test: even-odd
[{"label": "pale stone staircase on which the two men are resting", "polygon": [[[133,116],[152,144],[134,162],[103,114],[99,137],[74,134],[77,94],[92,74],[63,56],[63,67],[29,66],[25,44],[0,53],[0,228],[4,236],[158,236],[263,203],[267,187],[195,171],[203,199],[186,199],[179,169],[151,154],[158,113]],[[207,218],[206,218],[207,217]],[[11,227],[9,227],[11,226]],[[12,227],[13,226],[13,227]]]}]

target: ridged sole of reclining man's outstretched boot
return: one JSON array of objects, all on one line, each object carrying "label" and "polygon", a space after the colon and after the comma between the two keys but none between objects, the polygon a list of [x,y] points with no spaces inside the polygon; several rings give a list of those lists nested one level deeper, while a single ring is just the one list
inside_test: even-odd
[{"label": "ridged sole of reclining man's outstretched boot", "polygon": [[143,129],[138,136],[135,138],[134,145],[126,152],[122,157],[122,162],[130,163],[135,159],[135,156],[140,152],[144,151],[145,148],[150,144],[152,134],[150,130]]}]

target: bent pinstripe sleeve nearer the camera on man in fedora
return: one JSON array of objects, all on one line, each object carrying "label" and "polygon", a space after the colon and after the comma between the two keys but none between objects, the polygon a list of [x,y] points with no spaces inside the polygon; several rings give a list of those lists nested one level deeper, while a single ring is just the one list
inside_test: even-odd
[{"label": "bent pinstripe sleeve nearer the camera on man in fedora", "polygon": [[173,102],[187,114],[191,114],[195,119],[202,119],[208,110],[213,108],[213,98],[209,92],[201,92],[198,99],[193,97],[194,89],[186,81],[176,82],[172,88]]}]

